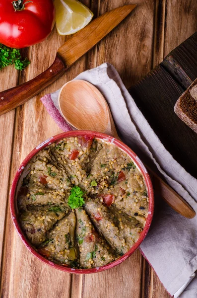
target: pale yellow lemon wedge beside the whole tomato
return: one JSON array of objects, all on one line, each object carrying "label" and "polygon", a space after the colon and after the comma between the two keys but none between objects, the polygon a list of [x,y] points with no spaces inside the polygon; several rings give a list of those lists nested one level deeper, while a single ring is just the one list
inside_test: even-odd
[{"label": "pale yellow lemon wedge beside the whole tomato", "polygon": [[55,0],[56,28],[60,35],[70,35],[84,28],[93,13],[77,0]]}]

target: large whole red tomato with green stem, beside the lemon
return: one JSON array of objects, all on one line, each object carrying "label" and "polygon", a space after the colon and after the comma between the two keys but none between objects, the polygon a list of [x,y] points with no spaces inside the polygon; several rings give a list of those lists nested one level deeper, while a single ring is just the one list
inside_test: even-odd
[{"label": "large whole red tomato with green stem, beside the lemon", "polygon": [[0,0],[0,43],[11,48],[43,41],[55,24],[53,0]]}]

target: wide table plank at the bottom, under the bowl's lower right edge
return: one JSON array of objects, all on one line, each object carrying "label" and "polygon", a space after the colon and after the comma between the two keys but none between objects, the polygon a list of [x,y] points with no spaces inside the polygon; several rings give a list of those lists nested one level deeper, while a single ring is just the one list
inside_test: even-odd
[{"label": "wide table plank at the bottom, under the bowl's lower right edge", "polygon": [[84,275],[82,298],[140,298],[141,255],[101,273]]}]

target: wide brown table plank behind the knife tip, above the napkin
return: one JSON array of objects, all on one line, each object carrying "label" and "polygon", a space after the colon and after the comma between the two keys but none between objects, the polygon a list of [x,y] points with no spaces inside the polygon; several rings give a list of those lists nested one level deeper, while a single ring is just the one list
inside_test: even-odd
[{"label": "wide brown table plank behind the knife tip, above the napkin", "polygon": [[[134,2],[137,6],[131,14],[98,44],[97,65],[112,63],[126,87],[151,69],[154,1]],[[100,13],[126,3],[126,0],[102,1]]]}]

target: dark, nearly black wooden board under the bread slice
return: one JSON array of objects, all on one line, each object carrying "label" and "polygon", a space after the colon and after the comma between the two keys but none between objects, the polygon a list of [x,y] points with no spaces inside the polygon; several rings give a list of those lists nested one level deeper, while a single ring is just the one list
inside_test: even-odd
[{"label": "dark, nearly black wooden board under the bread slice", "polygon": [[197,77],[196,57],[197,33],[129,92],[165,148],[197,178],[197,134],[174,113],[175,102]]}]

